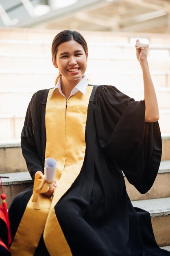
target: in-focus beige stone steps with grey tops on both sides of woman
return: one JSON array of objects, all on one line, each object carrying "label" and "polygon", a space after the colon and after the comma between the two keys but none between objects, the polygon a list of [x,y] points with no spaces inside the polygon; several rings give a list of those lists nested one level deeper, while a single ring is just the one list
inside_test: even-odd
[{"label": "in-focus beige stone steps with grey tops on both sides of woman", "polygon": [[[157,178],[152,188],[141,195],[126,177],[126,189],[133,206],[150,212],[153,231],[159,246],[170,250],[170,137],[163,137],[163,155]],[[166,156],[169,155],[169,158]],[[6,144],[0,146],[0,173],[9,176],[3,179],[4,193],[7,195],[7,204],[10,205],[15,195],[33,185],[20,144]],[[16,161],[17,159],[17,161]]]}]

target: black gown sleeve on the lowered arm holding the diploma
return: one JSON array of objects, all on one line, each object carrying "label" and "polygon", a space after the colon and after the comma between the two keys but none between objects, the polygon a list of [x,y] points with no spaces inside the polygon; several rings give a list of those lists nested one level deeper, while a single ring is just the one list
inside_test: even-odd
[{"label": "black gown sleeve on the lowered arm holding the diploma", "polygon": [[21,133],[21,148],[28,171],[34,180],[36,171],[44,172],[41,160],[41,100],[36,92],[26,112],[24,127]]}]

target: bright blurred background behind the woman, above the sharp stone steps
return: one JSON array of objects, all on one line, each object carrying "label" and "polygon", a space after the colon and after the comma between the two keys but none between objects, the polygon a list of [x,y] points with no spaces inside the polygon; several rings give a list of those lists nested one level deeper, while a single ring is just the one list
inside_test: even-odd
[{"label": "bright blurred background behind the woman, above the sharp stone steps", "polygon": [[52,88],[51,43],[63,29],[87,40],[87,78],[144,98],[135,40],[149,43],[162,134],[170,134],[170,0],[0,0],[0,143],[20,141],[26,108]]}]

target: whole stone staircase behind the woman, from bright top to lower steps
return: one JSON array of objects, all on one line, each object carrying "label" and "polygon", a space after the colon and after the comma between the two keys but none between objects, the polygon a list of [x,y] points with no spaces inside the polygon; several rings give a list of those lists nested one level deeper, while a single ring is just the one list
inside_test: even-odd
[{"label": "whole stone staircase behind the woman, from bright top to lower steps", "polygon": [[[57,70],[52,65],[50,47],[57,33],[0,28],[0,173],[10,177],[3,180],[8,205],[15,195],[33,184],[22,157],[20,133],[33,93],[54,86]],[[133,205],[150,212],[159,245],[170,246],[170,36],[94,31],[82,34],[89,45],[89,83],[115,85],[135,100],[144,97],[135,38],[150,44],[148,61],[163,139],[161,165],[153,187],[145,195],[124,178]]]}]

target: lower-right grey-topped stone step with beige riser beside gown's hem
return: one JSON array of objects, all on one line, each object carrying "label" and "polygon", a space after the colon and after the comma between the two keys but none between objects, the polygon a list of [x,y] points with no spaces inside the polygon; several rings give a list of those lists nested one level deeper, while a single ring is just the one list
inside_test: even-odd
[{"label": "lower-right grey-topped stone step with beige riser beside gown's hem", "polygon": [[133,201],[132,204],[150,213],[158,245],[170,245],[170,198]]}]

